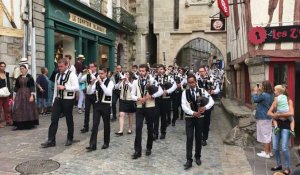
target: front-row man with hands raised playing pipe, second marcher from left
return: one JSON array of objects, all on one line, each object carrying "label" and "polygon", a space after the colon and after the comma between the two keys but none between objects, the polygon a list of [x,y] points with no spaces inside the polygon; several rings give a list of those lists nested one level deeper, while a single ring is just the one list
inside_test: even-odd
[{"label": "front-row man with hands raised playing pipe, second marcher from left", "polygon": [[107,69],[99,68],[97,81],[92,85],[96,88],[96,101],[93,105],[93,128],[90,138],[90,145],[86,147],[88,152],[97,149],[97,135],[100,124],[100,117],[102,117],[104,125],[104,144],[101,149],[109,147],[110,142],[110,104],[112,100],[112,91],[114,83],[107,78]]}]

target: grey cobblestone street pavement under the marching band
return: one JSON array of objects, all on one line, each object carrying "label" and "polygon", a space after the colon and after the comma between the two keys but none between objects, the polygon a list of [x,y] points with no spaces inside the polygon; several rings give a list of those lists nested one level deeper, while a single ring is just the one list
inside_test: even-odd
[{"label": "grey cobblestone street pavement under the marching band", "polygon": [[[27,160],[53,159],[61,166],[49,174],[211,174],[211,175],[250,175],[253,174],[244,150],[236,146],[223,144],[223,137],[231,129],[223,110],[216,106],[212,114],[211,132],[208,145],[202,149],[202,165],[185,171],[185,125],[179,120],[175,127],[167,128],[165,140],[154,142],[152,155],[145,156],[146,125],[143,129],[143,155],[138,160],[132,160],[134,152],[134,132],[116,137],[118,122],[112,123],[111,143],[106,150],[101,150],[103,144],[103,126],[98,134],[98,150],[87,153],[90,132],[79,132],[83,123],[83,115],[74,110],[75,135],[80,142],[71,147],[65,147],[66,124],[60,120],[56,147],[43,149],[40,143],[47,138],[50,117],[41,117],[36,129],[11,131],[10,127],[0,129],[0,174],[18,174],[15,166]],[[126,121],[127,124],[127,121]],[[125,127],[126,128],[126,127]],[[126,131],[126,130],[125,130]]]}]

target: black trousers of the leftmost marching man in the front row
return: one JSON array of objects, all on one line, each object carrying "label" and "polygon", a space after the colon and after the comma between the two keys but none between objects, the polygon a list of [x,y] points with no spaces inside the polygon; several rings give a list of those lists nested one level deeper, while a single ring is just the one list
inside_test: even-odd
[{"label": "black trousers of the leftmost marching man in the front row", "polygon": [[51,114],[51,124],[48,132],[48,140],[55,142],[55,136],[58,128],[58,121],[61,114],[66,116],[66,122],[68,127],[68,140],[73,140],[74,135],[74,121],[73,121],[73,106],[74,99],[67,100],[61,98],[55,98],[52,114]]}]

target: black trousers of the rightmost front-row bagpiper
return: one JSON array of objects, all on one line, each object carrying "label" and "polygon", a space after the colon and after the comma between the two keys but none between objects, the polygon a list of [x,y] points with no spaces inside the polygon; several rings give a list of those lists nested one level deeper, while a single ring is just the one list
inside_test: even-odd
[{"label": "black trousers of the rightmost front-row bagpiper", "polygon": [[201,157],[203,118],[186,117],[186,159],[193,161],[193,141],[195,134],[195,158]]}]

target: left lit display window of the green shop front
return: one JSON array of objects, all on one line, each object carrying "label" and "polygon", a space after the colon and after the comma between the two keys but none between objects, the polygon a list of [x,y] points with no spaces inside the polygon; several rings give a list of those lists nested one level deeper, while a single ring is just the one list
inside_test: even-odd
[{"label": "left lit display window of the green shop front", "polygon": [[65,55],[71,55],[71,64],[75,63],[75,38],[62,33],[55,32],[54,35],[54,62],[63,58]]}]

